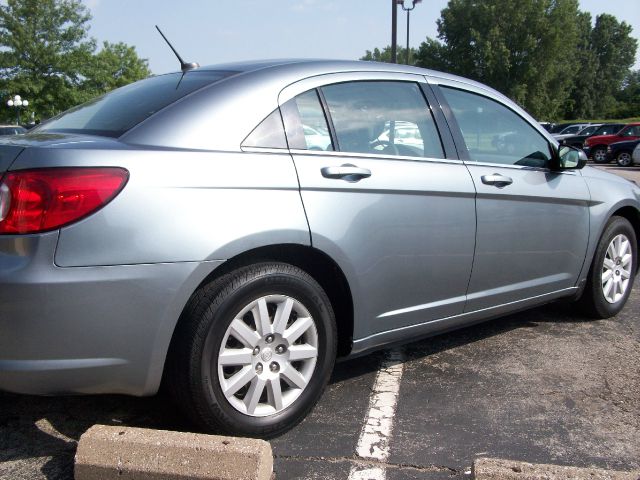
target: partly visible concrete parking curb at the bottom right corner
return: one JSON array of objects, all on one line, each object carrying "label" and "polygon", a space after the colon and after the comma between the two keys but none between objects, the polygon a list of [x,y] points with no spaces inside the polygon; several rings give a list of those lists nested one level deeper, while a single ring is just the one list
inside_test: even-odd
[{"label": "partly visible concrete parking curb at the bottom right corner", "polygon": [[640,471],[562,467],[498,458],[476,459],[473,462],[473,474],[475,480],[640,480]]}]

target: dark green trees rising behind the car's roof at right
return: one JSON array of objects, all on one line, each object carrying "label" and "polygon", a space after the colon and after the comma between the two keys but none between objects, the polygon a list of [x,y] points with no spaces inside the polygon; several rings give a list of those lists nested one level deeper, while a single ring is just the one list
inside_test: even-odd
[{"label": "dark green trees rising behind the car's roof at right", "polygon": [[541,120],[614,115],[627,101],[620,92],[637,41],[627,23],[603,14],[592,24],[578,7],[578,0],[449,0],[438,38],[427,38],[413,63],[486,83]]}]

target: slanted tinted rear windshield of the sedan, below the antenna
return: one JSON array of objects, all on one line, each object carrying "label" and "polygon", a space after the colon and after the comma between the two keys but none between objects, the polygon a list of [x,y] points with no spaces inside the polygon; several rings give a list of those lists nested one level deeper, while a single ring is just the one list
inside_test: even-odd
[{"label": "slanted tinted rear windshield of the sedan, below the antenna", "polygon": [[150,77],[67,110],[34,131],[119,137],[167,105],[234,73],[192,71]]}]

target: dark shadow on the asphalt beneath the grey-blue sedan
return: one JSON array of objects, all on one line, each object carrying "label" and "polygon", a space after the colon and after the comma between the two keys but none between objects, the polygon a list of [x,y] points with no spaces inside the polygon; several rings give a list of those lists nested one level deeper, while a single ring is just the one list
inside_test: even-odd
[{"label": "dark shadow on the asphalt beneath the grey-blue sedan", "polygon": [[[407,360],[472,344],[540,322],[583,322],[561,303],[501,317],[408,344]],[[330,380],[338,384],[375,372],[387,350],[339,362]],[[73,457],[80,436],[95,424],[198,432],[162,392],[154,397],[121,395],[36,397],[0,392],[0,477],[25,477],[38,468],[48,480],[73,478]],[[9,471],[7,471],[7,469]],[[15,473],[15,474],[13,474]]]}]

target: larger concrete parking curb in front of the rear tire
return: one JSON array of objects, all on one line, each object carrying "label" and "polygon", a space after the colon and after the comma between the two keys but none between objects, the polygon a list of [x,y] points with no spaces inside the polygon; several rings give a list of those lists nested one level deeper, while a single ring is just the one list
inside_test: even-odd
[{"label": "larger concrete parking curb in front of the rear tire", "polygon": [[94,425],[78,442],[75,480],[269,480],[263,440]]}]

